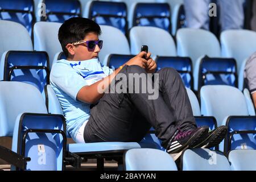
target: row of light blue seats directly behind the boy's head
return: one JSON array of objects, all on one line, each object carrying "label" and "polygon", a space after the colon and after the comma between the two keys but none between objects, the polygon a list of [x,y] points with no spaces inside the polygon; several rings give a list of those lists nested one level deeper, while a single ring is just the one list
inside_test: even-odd
[{"label": "row of light blue seats directly behind the boy's head", "polygon": [[[49,83],[52,64],[58,59],[65,59],[57,39],[60,26],[61,23],[35,23],[33,48],[26,28],[15,22],[0,20],[3,44],[0,48],[1,80],[19,80],[26,73],[21,69],[33,66],[26,68],[27,79],[43,92],[44,85]],[[99,59],[102,64],[118,68],[146,44],[158,69],[175,68],[185,86],[196,91],[203,85],[216,84],[243,90],[246,59],[256,50],[256,32],[248,30],[222,32],[220,46],[217,38],[205,30],[181,28],[177,31],[175,44],[172,36],[160,28],[138,26],[131,28],[129,46],[128,40],[117,28],[101,26],[101,29],[100,39],[104,40],[104,47]]]}]

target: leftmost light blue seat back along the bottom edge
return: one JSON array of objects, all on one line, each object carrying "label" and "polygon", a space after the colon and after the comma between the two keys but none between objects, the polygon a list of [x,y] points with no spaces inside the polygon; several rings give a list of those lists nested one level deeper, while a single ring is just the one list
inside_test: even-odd
[{"label": "leftmost light blue seat back along the bottom edge", "polygon": [[177,171],[172,157],[164,151],[134,148],[125,152],[126,171]]}]

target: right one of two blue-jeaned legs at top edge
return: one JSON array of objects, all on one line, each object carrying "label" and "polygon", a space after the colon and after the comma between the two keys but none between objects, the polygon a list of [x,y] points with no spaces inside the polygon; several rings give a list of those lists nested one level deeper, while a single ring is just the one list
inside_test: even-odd
[{"label": "right one of two blue-jeaned legs at top edge", "polygon": [[244,2],[245,0],[219,0],[221,31],[243,28],[245,20]]}]

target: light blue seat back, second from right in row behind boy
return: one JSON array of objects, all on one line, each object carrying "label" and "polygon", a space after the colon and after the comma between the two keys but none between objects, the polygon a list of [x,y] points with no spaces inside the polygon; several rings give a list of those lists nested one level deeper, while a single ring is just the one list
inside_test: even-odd
[{"label": "light blue seat back, second from right in row behind boy", "polygon": [[209,31],[180,28],[176,35],[177,55],[191,57],[193,65],[200,56],[220,57],[220,43]]}]

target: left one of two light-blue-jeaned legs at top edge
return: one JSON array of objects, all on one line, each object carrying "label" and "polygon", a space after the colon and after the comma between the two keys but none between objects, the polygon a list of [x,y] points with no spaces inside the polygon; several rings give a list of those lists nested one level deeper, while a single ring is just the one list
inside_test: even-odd
[{"label": "left one of two light-blue-jeaned legs at top edge", "polygon": [[188,28],[209,30],[209,3],[210,0],[184,0]]}]

